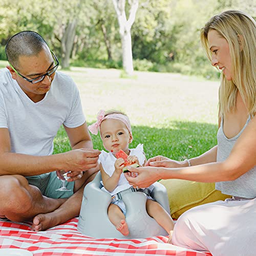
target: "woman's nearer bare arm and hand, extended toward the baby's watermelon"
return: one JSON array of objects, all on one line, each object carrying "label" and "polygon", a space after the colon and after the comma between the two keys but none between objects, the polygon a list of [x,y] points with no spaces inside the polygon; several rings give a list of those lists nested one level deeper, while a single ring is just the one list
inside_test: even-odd
[{"label": "woman's nearer bare arm and hand, extended toward the baby's watermelon", "polygon": [[[159,179],[183,179],[199,182],[218,182],[236,180],[256,165],[256,118],[254,117],[243,131],[232,148],[229,157],[223,162],[203,163],[209,160],[216,161],[217,147],[192,159],[195,166],[181,168],[142,167],[130,168],[137,172],[136,178],[127,177],[131,185],[147,187]],[[213,157],[215,156],[215,158]],[[200,165],[198,163],[200,162]]]}]

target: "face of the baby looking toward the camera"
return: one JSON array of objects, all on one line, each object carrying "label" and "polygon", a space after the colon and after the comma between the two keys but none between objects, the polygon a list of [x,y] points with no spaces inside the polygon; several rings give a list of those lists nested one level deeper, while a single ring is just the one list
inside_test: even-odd
[{"label": "face of the baby looking toward the camera", "polygon": [[100,124],[100,134],[105,149],[114,155],[119,150],[129,153],[132,136],[126,125],[117,119],[105,119]]}]

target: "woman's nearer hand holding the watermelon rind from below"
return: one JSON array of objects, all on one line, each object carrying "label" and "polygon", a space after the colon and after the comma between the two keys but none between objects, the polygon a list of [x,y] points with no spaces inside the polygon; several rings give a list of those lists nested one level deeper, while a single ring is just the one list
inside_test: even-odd
[{"label": "woman's nearer hand holding the watermelon rind from below", "polygon": [[[161,179],[159,169],[157,167],[128,167],[128,170],[132,173],[124,173],[124,176],[129,184],[134,187],[148,187],[154,182]],[[134,177],[133,173],[137,173],[137,177]]]}]

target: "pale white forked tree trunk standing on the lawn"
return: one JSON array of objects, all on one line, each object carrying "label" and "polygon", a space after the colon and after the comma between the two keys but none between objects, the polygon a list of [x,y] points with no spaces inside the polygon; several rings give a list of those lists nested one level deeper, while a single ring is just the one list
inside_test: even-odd
[{"label": "pale white forked tree trunk standing on the lawn", "polygon": [[133,74],[133,53],[132,53],[132,37],[131,28],[135,21],[136,12],[139,6],[139,0],[128,0],[131,6],[129,18],[126,18],[125,0],[112,0],[117,14],[119,33],[122,42],[122,61],[123,69],[127,75]]}]

